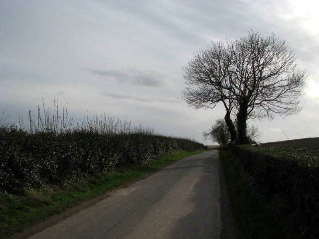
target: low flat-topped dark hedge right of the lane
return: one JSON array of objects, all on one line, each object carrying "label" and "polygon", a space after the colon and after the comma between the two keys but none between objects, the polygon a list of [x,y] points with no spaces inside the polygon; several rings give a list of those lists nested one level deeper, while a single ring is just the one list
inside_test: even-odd
[{"label": "low flat-topped dark hedge right of the lane", "polygon": [[300,238],[319,238],[319,149],[232,146],[245,171],[291,198]]}]

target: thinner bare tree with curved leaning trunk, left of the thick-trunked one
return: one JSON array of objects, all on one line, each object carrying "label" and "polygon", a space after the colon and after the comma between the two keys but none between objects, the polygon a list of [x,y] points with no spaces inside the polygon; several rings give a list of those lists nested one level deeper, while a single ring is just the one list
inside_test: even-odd
[{"label": "thinner bare tree with curved leaning trunk, left of the thick-trunked one", "polygon": [[221,42],[212,42],[208,49],[195,52],[188,65],[183,67],[183,77],[189,87],[182,91],[182,97],[194,109],[213,109],[217,103],[222,102],[226,109],[224,119],[230,139],[235,141],[237,133],[231,119],[234,104],[229,97],[232,94],[231,86],[227,87],[230,60],[225,45]]}]

